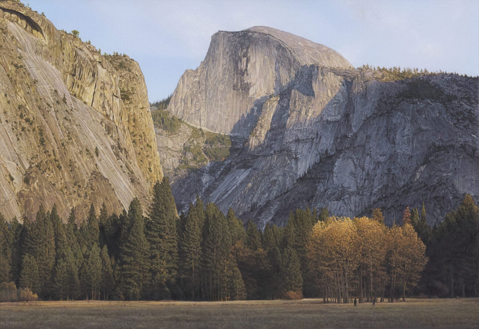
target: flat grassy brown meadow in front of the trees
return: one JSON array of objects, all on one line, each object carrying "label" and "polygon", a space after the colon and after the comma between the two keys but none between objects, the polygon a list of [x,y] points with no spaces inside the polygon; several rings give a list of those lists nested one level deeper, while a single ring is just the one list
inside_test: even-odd
[{"label": "flat grassy brown meadow in front of the trees", "polygon": [[321,299],[0,304],[0,328],[474,328],[479,298],[324,305]]}]

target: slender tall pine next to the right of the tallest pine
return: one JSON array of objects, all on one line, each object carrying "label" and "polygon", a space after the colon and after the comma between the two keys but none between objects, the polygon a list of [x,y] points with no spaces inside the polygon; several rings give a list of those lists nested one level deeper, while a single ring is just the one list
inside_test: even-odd
[{"label": "slender tall pine next to the right of the tallest pine", "polygon": [[182,238],[179,241],[179,271],[185,295],[194,300],[199,285],[201,230],[198,226],[198,215],[192,206],[190,205]]}]

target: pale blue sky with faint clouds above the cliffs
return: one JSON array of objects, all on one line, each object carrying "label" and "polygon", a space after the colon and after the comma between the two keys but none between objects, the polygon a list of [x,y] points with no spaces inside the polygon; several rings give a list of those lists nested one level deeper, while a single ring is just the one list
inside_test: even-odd
[{"label": "pale blue sky with faint clouds above the cliffs", "polygon": [[211,35],[266,25],[329,46],[355,67],[400,66],[478,75],[479,1],[23,0],[102,53],[125,53],[150,102],[205,58]]}]

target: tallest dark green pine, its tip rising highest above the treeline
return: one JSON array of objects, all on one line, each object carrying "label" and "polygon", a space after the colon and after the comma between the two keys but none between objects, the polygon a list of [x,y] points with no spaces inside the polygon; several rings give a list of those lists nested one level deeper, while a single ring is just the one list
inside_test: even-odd
[{"label": "tallest dark green pine, its tip rising highest above the treeline", "polygon": [[153,187],[153,202],[147,221],[149,261],[153,298],[170,298],[170,288],[178,271],[178,238],[176,231],[176,205],[170,182],[165,176]]}]

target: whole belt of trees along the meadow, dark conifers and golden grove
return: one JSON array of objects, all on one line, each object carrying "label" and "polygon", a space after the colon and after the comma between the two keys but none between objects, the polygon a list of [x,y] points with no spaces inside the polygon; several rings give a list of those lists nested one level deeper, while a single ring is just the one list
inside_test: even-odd
[{"label": "whole belt of trees along the meadow, dark conifers and golden grove", "polygon": [[33,222],[0,214],[0,300],[479,296],[478,230],[468,194],[435,227],[422,205],[391,227],[381,209],[351,219],[307,208],[258,230],[199,198],[178,216],[165,177],[145,211],[135,198],[121,214],[91,205],[65,221],[55,205]]}]

